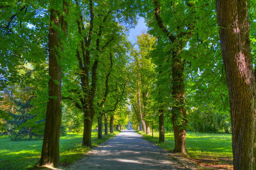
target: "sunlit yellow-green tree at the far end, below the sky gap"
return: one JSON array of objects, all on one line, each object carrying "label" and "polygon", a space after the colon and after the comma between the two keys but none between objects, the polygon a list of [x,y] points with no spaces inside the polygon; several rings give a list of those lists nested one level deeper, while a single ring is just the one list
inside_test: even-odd
[{"label": "sunlit yellow-green tree at the far end, below the sky gap", "polygon": [[[154,64],[150,58],[150,52],[154,49],[156,38],[143,33],[137,36],[138,49],[131,52],[131,56],[134,58],[132,63],[133,73],[136,75],[133,80],[134,92],[136,92],[136,99],[133,99],[133,103],[137,104],[134,106],[137,108],[137,113],[139,116],[139,121],[141,121],[143,131],[149,135],[150,134],[150,124],[151,121],[151,110],[149,107],[149,102],[151,98],[151,86],[154,84]],[[135,96],[134,96],[135,97]],[[138,122],[139,122],[138,121]]]}]

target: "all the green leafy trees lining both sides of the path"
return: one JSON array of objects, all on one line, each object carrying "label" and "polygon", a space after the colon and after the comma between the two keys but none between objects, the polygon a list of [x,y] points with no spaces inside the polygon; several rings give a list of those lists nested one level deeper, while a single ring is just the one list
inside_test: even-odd
[{"label": "all the green leafy trees lining both sides of the path", "polygon": [[[107,114],[119,111],[120,124],[124,122],[129,97],[133,122],[146,134],[158,118],[159,142],[165,142],[166,120],[172,122],[175,153],[188,154],[189,127],[227,132],[228,125],[220,122],[229,119],[230,111],[234,169],[255,168],[254,5],[252,0],[217,0],[216,4],[214,0],[19,0],[0,4],[4,14],[0,17],[2,89],[29,87],[22,98],[33,105],[29,113],[37,113],[25,124],[45,119],[37,165],[59,163],[62,101],[80,114],[82,145],[91,146],[94,118],[101,138],[103,117],[106,126]],[[149,30],[132,47],[126,30],[134,26],[137,16],[145,18]],[[25,64],[30,64],[31,71],[17,74]],[[24,94],[24,89],[17,93]],[[200,114],[206,116],[195,123]],[[213,122],[218,123],[213,126]]]}]

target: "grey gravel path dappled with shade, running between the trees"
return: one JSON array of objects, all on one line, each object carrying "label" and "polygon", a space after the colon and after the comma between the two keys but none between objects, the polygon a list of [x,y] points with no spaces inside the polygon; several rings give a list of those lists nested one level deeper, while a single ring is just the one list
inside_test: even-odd
[{"label": "grey gravel path dappled with shade, running between the trees", "polygon": [[68,170],[175,170],[161,149],[133,130],[123,130]]}]

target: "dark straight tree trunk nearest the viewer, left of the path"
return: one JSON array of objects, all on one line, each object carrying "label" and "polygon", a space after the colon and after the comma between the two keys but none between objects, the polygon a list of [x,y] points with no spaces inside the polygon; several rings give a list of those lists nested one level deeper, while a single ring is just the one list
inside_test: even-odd
[{"label": "dark straight tree trunk nearest the viewer, left of the path", "polygon": [[[69,4],[63,1],[63,9],[65,15],[68,14],[67,6]],[[64,21],[64,16],[55,10],[53,4],[50,4],[50,28],[48,35],[49,47],[49,82],[48,82],[48,96],[49,101],[46,107],[46,124],[44,132],[44,140],[42,146],[42,153],[36,167],[39,166],[58,166],[59,165],[59,138],[61,127],[61,111],[62,111],[62,95],[61,95],[61,78],[62,69],[58,64],[58,59],[61,59],[58,51],[58,31],[55,27],[61,26],[61,30],[66,35],[67,22]],[[63,51],[63,47],[61,47]],[[58,82],[58,83],[56,83]],[[53,98],[54,97],[54,98]]]}]

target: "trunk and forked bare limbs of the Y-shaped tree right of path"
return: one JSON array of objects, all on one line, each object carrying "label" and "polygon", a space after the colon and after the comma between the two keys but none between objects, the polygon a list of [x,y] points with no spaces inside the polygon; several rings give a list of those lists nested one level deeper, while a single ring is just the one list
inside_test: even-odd
[{"label": "trunk and forked bare limbs of the Y-shaped tree right of path", "polygon": [[[174,126],[174,153],[188,154],[186,150],[186,110],[185,110],[185,86],[183,82],[184,63],[180,54],[185,47],[186,43],[193,34],[195,21],[189,21],[186,23],[187,28],[185,32],[181,32],[177,35],[171,34],[165,27],[163,20],[160,17],[161,5],[158,0],[153,1],[155,3],[155,19],[162,32],[172,42],[172,69],[173,69],[173,81],[172,81],[172,95],[174,105],[172,108],[172,121]],[[188,12],[195,13],[194,2],[186,1],[188,6]],[[179,27],[179,26],[178,26]]]}]

